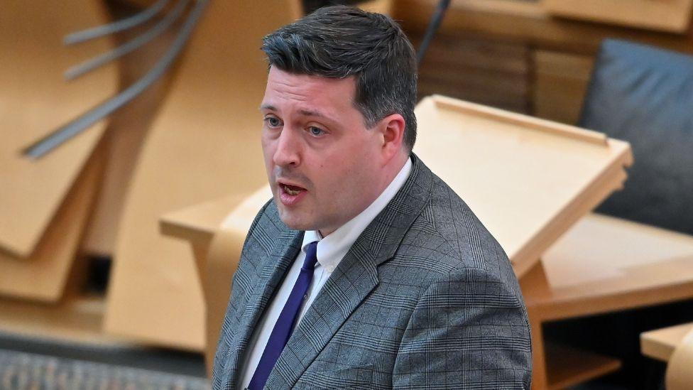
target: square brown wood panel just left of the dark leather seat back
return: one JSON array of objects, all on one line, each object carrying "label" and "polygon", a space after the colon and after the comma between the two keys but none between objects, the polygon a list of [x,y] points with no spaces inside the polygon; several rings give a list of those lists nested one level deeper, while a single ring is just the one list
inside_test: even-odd
[{"label": "square brown wood panel just left of the dark leather seat back", "polygon": [[534,53],[534,115],[577,124],[594,59],[548,50]]}]

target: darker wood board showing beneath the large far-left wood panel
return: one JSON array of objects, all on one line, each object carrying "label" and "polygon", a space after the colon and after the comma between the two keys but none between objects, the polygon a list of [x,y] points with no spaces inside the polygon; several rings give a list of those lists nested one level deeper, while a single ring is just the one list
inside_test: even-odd
[{"label": "darker wood board showing beneath the large far-left wood panel", "polygon": [[0,252],[0,295],[44,302],[57,302],[63,296],[101,184],[104,168],[102,146],[89,158],[80,178],[31,255],[18,259]]}]

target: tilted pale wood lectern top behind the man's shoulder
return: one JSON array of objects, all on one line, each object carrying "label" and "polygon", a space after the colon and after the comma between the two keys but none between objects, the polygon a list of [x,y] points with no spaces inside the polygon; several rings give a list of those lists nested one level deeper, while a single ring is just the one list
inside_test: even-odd
[{"label": "tilted pale wood lectern top behind the man's shoulder", "polygon": [[435,96],[416,114],[415,153],[471,207],[518,276],[620,188],[631,163],[628,143],[490,107]]}]

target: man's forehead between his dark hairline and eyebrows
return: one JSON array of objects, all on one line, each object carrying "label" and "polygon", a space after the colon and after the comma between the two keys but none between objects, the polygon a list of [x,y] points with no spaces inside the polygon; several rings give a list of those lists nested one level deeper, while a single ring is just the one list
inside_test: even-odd
[{"label": "man's forehead between his dark hairline and eyebrows", "polygon": [[314,75],[299,75],[271,67],[263,106],[280,107],[286,104],[307,107],[353,108],[356,94],[355,78],[334,79]]}]

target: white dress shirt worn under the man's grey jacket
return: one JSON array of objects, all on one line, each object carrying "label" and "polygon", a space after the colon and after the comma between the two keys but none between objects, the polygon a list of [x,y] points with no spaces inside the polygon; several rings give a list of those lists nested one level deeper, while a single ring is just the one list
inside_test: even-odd
[{"label": "white dress shirt worn under the man's grey jacket", "polygon": [[274,324],[277,322],[281,310],[284,308],[289,298],[289,294],[293,289],[293,285],[296,283],[296,279],[298,279],[298,274],[305,260],[305,249],[308,244],[315,241],[318,242],[317,264],[315,264],[315,271],[313,271],[313,280],[306,293],[307,298],[303,301],[300,313],[298,314],[296,326],[298,326],[306,310],[310,307],[313,300],[315,300],[315,297],[327,281],[327,278],[329,278],[334,269],[337,268],[337,265],[339,265],[339,261],[342,261],[346,252],[349,251],[351,245],[356,242],[356,239],[359,238],[366,227],[368,227],[373,219],[383,211],[386,205],[388,205],[388,202],[395,197],[397,191],[402,188],[404,182],[409,177],[411,167],[411,159],[408,158],[400,172],[395,176],[388,187],[383,190],[383,193],[381,193],[369,207],[366,207],[366,210],[356,215],[356,217],[349,220],[349,222],[343,224],[339,229],[332,232],[332,234],[328,234],[327,237],[322,237],[320,232],[315,230],[305,232],[303,235],[302,250],[293,261],[277,294],[269,303],[253,332],[253,337],[248,345],[248,353],[246,354],[244,364],[241,365],[241,372],[239,374],[241,380],[238,382],[239,389],[248,387],[253,378],[253,374],[258,367],[262,352],[265,350]]}]

